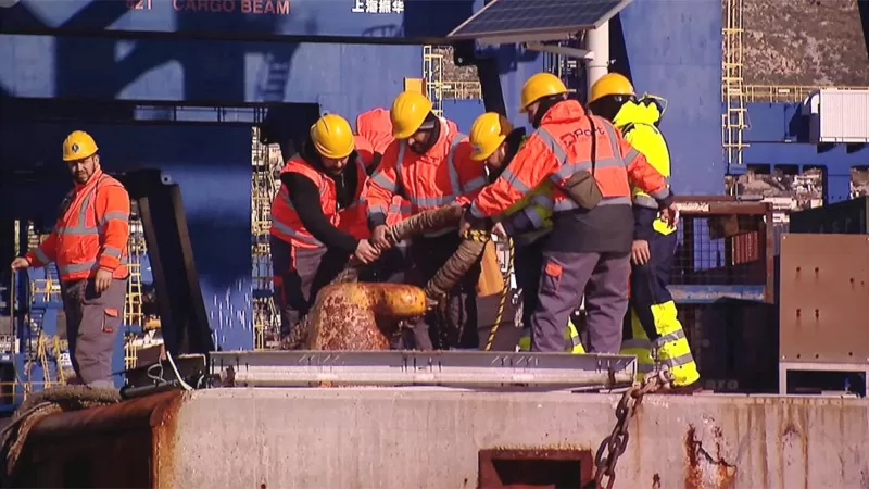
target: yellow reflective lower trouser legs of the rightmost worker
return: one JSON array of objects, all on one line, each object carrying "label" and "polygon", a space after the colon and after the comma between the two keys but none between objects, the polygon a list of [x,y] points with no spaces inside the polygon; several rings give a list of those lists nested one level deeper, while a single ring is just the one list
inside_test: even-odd
[{"label": "yellow reflective lower trouser legs of the rightmost worker", "polygon": [[[635,355],[638,363],[638,380],[642,375],[652,372],[655,360],[666,365],[673,375],[675,386],[688,386],[700,379],[697,364],[691,354],[691,348],[685,338],[685,331],[676,314],[676,304],[672,301],[652,305],[652,315],[655,317],[655,330],[660,338],[654,342],[643,331],[643,326],[637,314],[631,310],[631,336],[621,342],[621,353]],[[656,351],[657,359],[652,356]]]}]

